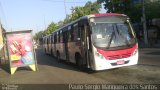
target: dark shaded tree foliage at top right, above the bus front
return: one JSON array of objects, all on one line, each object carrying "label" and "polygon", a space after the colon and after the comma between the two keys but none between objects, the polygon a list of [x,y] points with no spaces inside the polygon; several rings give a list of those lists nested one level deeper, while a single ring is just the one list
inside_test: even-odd
[{"label": "dark shaded tree foliage at top right, above the bus front", "polygon": [[[97,0],[103,3],[107,12],[124,13],[132,22],[141,21],[142,3],[134,4],[133,0]],[[147,19],[160,18],[160,2],[145,0],[145,11]]]}]

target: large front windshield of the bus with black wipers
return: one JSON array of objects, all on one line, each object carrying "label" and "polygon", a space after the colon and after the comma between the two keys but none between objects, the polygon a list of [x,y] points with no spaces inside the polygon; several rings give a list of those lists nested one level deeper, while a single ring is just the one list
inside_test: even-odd
[{"label": "large front windshield of the bus with black wipers", "polygon": [[93,45],[105,50],[133,46],[136,39],[129,21],[121,18],[112,21],[112,18],[109,22],[95,20],[91,23]]}]

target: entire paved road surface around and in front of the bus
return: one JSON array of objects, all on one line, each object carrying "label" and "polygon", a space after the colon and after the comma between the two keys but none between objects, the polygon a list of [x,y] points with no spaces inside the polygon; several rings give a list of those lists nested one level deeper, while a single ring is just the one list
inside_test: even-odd
[{"label": "entire paved road surface around and in front of the bus", "polygon": [[[159,54],[155,50],[140,50],[139,64],[118,69],[87,73],[37,50],[38,71],[21,68],[14,75],[0,69],[0,83],[16,84],[69,84],[69,83],[160,83]],[[159,52],[159,51],[158,51]],[[154,54],[155,53],[155,54]],[[148,55],[149,54],[149,55]],[[152,55],[154,54],[154,55]],[[147,57],[147,58],[146,58]],[[150,59],[151,58],[151,59]],[[152,62],[152,63],[150,63]]]}]

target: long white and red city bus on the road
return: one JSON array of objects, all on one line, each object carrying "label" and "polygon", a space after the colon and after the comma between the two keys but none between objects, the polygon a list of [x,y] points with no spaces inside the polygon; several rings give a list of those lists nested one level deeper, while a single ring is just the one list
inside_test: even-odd
[{"label": "long white and red city bus on the road", "polygon": [[105,70],[138,63],[136,35],[124,14],[83,16],[47,37],[50,54],[78,67]]}]

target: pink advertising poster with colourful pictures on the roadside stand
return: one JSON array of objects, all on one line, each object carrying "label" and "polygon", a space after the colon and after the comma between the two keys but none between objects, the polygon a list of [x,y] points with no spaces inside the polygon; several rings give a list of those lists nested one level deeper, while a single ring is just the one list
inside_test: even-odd
[{"label": "pink advertising poster with colourful pictures on the roadside stand", "polygon": [[7,44],[12,67],[34,64],[31,33],[7,34]]}]

